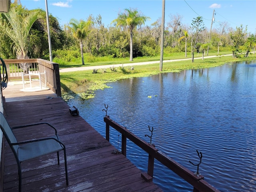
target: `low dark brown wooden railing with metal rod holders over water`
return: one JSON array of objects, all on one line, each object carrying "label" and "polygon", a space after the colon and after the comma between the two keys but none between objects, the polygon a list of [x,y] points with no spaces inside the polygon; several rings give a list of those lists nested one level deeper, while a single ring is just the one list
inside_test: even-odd
[{"label": "low dark brown wooden railing with metal rod holders over water", "polygon": [[142,177],[150,182],[153,180],[153,172],[154,172],[154,159],[158,160],[161,164],[172,170],[186,182],[191,184],[194,187],[194,192],[220,192],[218,189],[211,186],[208,182],[204,180],[204,176],[194,174],[192,171],[188,170],[186,167],[182,166],[178,162],[174,161],[172,158],[159,151],[153,145],[145,142],[125,127],[120,124],[114,122],[110,119],[109,116],[104,117],[104,122],[106,123],[106,140],[109,141],[110,134],[110,126],[116,129],[118,132],[122,134],[122,146],[121,152],[126,156],[126,139],[128,138],[134,144],[139,146],[145,152],[148,153],[148,172],[142,173]]}]

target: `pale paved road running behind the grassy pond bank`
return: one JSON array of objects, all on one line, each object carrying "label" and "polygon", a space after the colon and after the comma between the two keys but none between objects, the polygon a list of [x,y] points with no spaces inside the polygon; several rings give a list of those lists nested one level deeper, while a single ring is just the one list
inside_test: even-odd
[{"label": "pale paved road running behind the grassy pond bank", "polygon": [[[232,54],[222,55],[222,56],[231,56]],[[213,57],[219,57],[219,56],[205,56],[204,58],[213,58]],[[196,57],[194,59],[202,59],[202,57]],[[164,60],[165,62],[174,62],[174,61],[182,61],[182,60],[191,60],[191,58],[186,59],[173,59],[173,60]],[[103,68],[109,68],[109,67],[119,67],[119,66],[135,66],[135,65],[147,65],[147,64],[155,64],[159,63],[160,61],[149,61],[149,62],[138,62],[138,63],[126,63],[126,64],[114,64],[114,65],[99,65],[99,66],[88,66],[88,67],[74,67],[74,68],[64,68],[60,69],[61,72],[73,72],[73,71],[84,71],[84,70],[94,70],[94,69],[103,69]]]}]

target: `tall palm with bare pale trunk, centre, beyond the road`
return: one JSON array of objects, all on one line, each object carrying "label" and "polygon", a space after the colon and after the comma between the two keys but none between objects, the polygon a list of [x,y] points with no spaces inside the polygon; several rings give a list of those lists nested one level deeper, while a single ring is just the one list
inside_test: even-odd
[{"label": "tall palm with bare pale trunk, centre, beyond the road", "polygon": [[130,61],[133,60],[132,54],[132,36],[133,30],[136,29],[137,26],[141,26],[145,24],[146,20],[150,19],[147,16],[144,16],[138,12],[136,9],[125,9],[124,13],[119,13],[118,17],[112,21],[112,23],[116,24],[116,26],[127,27],[130,32]]}]

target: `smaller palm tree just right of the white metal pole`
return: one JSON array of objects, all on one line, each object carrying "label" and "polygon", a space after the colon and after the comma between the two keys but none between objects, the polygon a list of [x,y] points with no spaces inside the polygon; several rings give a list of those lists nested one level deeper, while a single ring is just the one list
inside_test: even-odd
[{"label": "smaller palm tree just right of the white metal pole", "polygon": [[84,21],[84,20],[78,21],[73,18],[70,20],[69,24],[72,26],[70,27],[70,30],[74,38],[76,38],[80,43],[82,65],[84,65],[83,40],[85,40],[85,38],[88,36],[93,22],[90,18],[87,21]]}]

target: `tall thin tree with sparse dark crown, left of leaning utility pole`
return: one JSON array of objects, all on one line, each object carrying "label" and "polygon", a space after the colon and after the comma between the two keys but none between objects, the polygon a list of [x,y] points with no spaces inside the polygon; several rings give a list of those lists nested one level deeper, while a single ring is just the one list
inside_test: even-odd
[{"label": "tall thin tree with sparse dark crown, left of leaning utility pole", "polygon": [[191,30],[192,30],[191,56],[192,56],[192,62],[194,62],[194,51],[196,48],[196,44],[198,43],[199,34],[200,32],[205,30],[203,18],[201,16],[198,16],[197,18],[193,18],[191,25],[192,25],[191,26]]}]

